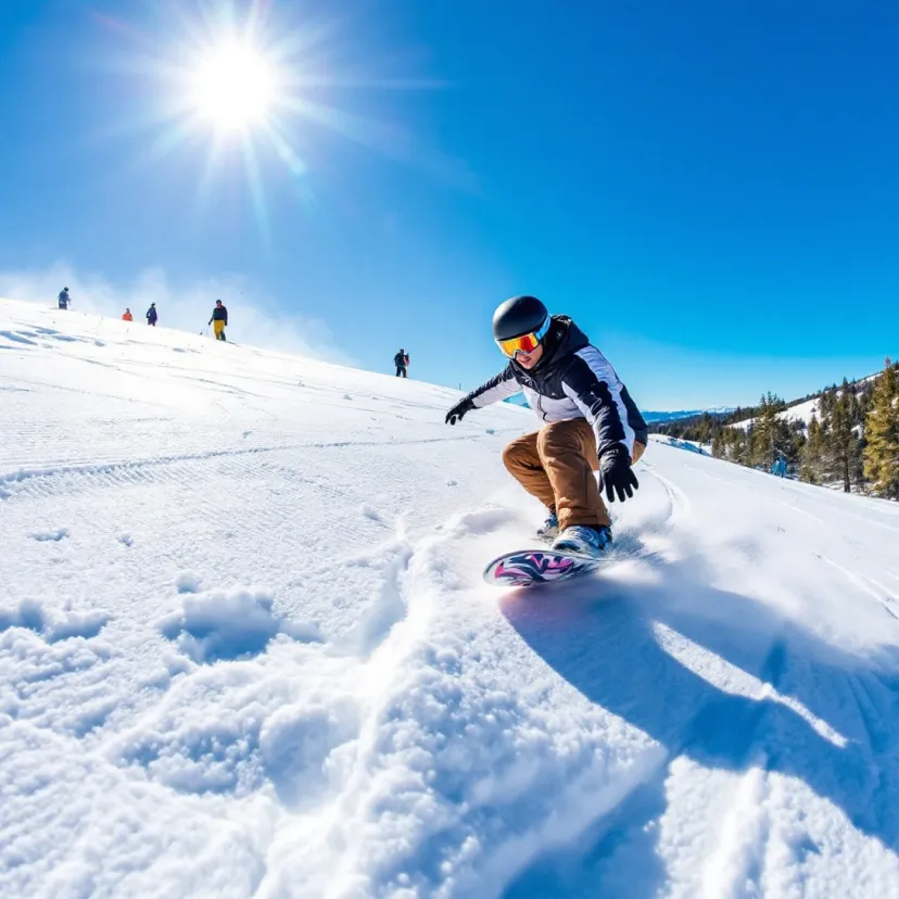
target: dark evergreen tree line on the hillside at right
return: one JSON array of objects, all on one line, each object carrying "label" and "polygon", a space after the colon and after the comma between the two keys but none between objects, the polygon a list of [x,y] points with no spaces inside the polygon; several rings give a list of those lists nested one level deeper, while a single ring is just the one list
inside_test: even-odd
[{"label": "dark evergreen tree line on the hillside at right", "polygon": [[[827,388],[819,394],[808,430],[801,421],[780,417],[787,408],[768,393],[751,409],[704,414],[654,430],[710,443],[712,455],[738,465],[770,471],[784,459],[787,473],[808,483],[899,499],[899,363],[887,359],[873,380],[844,379]],[[749,426],[732,427],[747,418],[752,419]]]}]

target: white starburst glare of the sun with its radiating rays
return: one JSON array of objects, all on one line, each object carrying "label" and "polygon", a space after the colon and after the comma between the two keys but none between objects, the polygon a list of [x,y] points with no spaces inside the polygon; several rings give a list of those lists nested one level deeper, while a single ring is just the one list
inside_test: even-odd
[{"label": "white starburst glare of the sun with its radiating rays", "polygon": [[[152,102],[135,111],[132,123],[115,127],[155,131],[141,151],[145,163],[166,160],[176,149],[201,160],[198,207],[212,205],[216,181],[245,186],[268,244],[267,182],[280,178],[279,189],[289,186],[289,195],[314,211],[306,153],[324,131],[456,177],[455,160],[429,153],[405,127],[364,111],[372,91],[429,90],[436,83],[396,77],[391,60],[367,59],[364,43],[345,45],[342,18],[307,20],[295,9],[305,4],[289,3],[279,4],[276,14],[273,0],[159,5],[167,10],[163,22],[170,40],[157,48],[148,37],[149,52],[141,48],[122,59],[124,71],[148,78]],[[198,14],[181,9],[191,5],[202,9]]]}]

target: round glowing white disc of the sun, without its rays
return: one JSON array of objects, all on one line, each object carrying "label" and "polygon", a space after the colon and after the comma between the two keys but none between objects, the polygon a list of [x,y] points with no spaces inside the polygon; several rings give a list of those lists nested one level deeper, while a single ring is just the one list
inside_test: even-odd
[{"label": "round glowing white disc of the sun, without its rays", "polygon": [[244,130],[263,123],[275,100],[273,67],[249,43],[231,41],[211,50],[191,80],[197,113],[221,130]]}]

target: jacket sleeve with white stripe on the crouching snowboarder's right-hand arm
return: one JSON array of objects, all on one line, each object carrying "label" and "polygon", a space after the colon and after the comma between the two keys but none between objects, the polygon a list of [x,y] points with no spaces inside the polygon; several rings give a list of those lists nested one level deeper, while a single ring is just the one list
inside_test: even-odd
[{"label": "jacket sleeve with white stripe on the crouching snowboarder's right-hand arm", "polygon": [[562,390],[581,409],[596,435],[596,454],[602,456],[616,443],[634,451],[634,430],[621,396],[623,384],[609,360],[594,346],[574,354],[562,375]]}]

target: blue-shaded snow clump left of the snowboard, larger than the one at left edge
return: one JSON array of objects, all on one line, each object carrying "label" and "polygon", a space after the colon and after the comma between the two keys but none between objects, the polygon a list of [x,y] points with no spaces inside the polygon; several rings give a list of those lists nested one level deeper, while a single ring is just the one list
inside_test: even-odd
[{"label": "blue-shaded snow clump left of the snowboard, larger than the one at left edge", "polygon": [[[179,579],[183,592],[194,578]],[[197,662],[238,659],[262,653],[279,634],[292,640],[320,641],[312,624],[288,621],[273,610],[274,596],[264,590],[214,590],[183,597],[181,609],[159,622],[163,635],[178,643]]]}]

